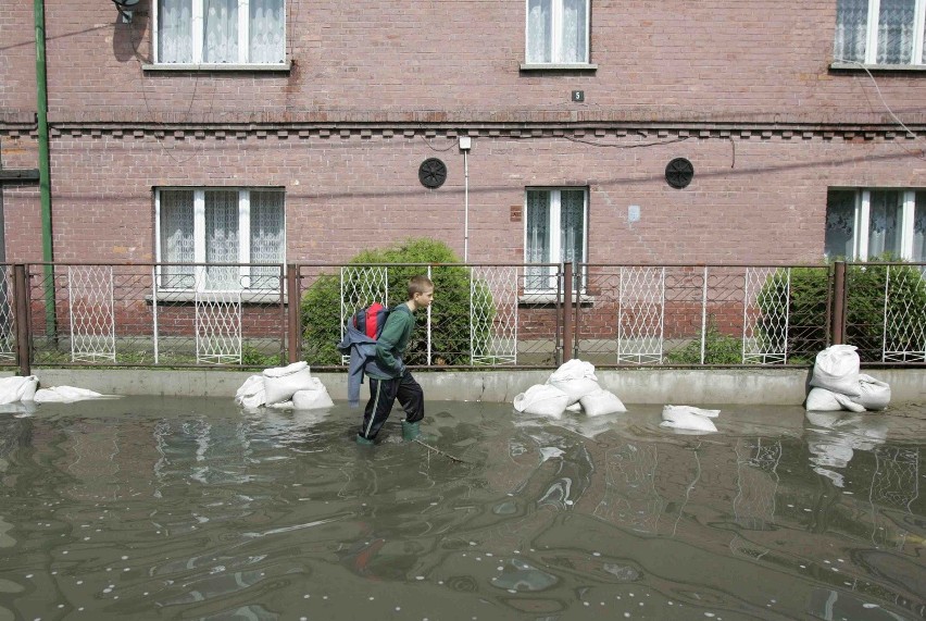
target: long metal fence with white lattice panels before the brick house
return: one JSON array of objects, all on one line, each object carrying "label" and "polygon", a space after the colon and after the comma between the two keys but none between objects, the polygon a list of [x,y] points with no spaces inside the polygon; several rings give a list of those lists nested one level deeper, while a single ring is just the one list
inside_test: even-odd
[{"label": "long metal fence with white lattice panels before the brick house", "polygon": [[[926,265],[108,264],[0,266],[0,365],[336,369],[351,314],[436,284],[406,363],[810,364],[834,343],[926,364]],[[290,303],[292,301],[292,303]]]}]

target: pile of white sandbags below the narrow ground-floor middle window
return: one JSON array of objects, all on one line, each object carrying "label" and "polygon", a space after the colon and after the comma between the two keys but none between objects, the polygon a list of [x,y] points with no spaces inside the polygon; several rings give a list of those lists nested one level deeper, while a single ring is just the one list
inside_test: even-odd
[{"label": "pile of white sandbags below the narrow ground-floor middle window", "polygon": [[595,367],[577,359],[562,364],[546,384],[536,384],[517,395],[514,409],[551,418],[562,417],[567,409],[589,417],[627,411],[614,393],[599,386]]}]

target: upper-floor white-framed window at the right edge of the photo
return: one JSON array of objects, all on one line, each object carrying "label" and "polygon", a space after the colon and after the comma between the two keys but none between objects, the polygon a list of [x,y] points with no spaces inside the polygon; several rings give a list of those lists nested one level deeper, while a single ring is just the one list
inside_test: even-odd
[{"label": "upper-floor white-framed window at the right edge of the photo", "polygon": [[926,64],[926,0],[837,0],[836,62]]}]

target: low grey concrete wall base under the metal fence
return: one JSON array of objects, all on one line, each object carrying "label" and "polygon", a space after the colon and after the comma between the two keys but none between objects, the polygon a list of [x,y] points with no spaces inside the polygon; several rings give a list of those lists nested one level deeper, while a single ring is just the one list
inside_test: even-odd
[{"label": "low grey concrete wall base under the metal fence", "polygon": [[[234,397],[254,372],[191,369],[37,369],[42,387],[76,386],[109,395]],[[415,377],[429,400],[512,402],[551,371],[428,372]],[[926,369],[867,371],[891,386],[893,403],[926,403]],[[4,375],[11,375],[7,373]],[[347,374],[316,373],[335,400],[347,399]],[[626,403],[743,403],[799,406],[808,392],[804,369],[620,369],[597,371],[599,384]],[[361,397],[365,398],[365,389]]]}]

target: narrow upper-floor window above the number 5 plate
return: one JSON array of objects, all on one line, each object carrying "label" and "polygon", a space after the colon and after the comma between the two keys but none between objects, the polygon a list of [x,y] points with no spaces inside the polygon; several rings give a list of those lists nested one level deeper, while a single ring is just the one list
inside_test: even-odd
[{"label": "narrow upper-floor window above the number 5 plate", "polygon": [[527,0],[527,64],[588,64],[590,0]]}]

